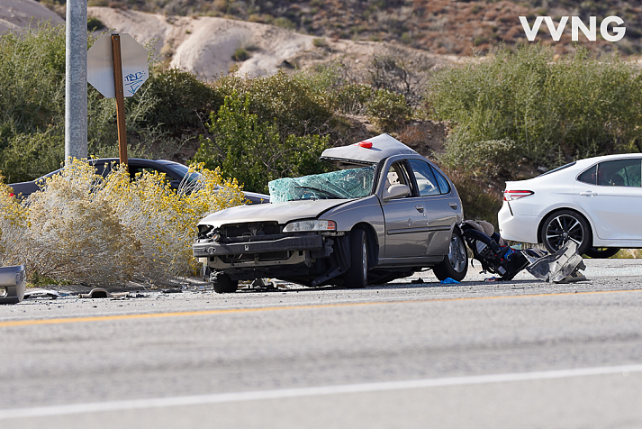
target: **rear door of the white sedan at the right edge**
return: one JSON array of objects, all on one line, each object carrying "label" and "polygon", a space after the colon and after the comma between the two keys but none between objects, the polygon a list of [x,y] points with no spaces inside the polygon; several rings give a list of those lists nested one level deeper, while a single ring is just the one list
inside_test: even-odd
[{"label": "rear door of the white sedan at the right edge", "polygon": [[601,240],[642,240],[642,160],[607,160],[583,171],[574,200]]}]

